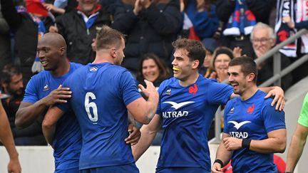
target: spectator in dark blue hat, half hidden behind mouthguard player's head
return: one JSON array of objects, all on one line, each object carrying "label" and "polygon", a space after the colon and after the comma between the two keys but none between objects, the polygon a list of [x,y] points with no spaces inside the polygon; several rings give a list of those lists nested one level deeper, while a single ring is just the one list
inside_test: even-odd
[{"label": "spectator in dark blue hat, half hidden behind mouthguard player's head", "polygon": [[213,38],[205,38],[202,40],[202,44],[205,46],[206,56],[203,65],[199,69],[199,73],[204,75],[205,78],[210,78],[210,73],[212,73],[210,62],[212,61],[212,54],[217,48],[217,41]]}]

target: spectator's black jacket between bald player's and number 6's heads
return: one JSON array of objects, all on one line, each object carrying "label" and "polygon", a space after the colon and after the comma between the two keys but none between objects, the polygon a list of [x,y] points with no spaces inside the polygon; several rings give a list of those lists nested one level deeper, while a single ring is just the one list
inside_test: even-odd
[{"label": "spectator's black jacket between bald player's and number 6's heads", "polygon": [[71,62],[87,64],[91,63],[96,53],[92,50],[91,43],[96,38],[97,27],[111,25],[111,15],[106,9],[101,9],[98,18],[91,28],[86,28],[83,16],[76,9],[69,11],[56,19],[58,33],[66,40],[68,45],[67,56]]}]

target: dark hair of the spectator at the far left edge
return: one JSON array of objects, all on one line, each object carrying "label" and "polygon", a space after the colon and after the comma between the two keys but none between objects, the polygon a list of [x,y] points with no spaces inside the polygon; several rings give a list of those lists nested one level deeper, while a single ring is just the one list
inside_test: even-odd
[{"label": "dark hair of the spectator at the far left edge", "polygon": [[8,64],[1,70],[1,83],[11,83],[13,75],[21,74],[21,69],[17,65]]}]

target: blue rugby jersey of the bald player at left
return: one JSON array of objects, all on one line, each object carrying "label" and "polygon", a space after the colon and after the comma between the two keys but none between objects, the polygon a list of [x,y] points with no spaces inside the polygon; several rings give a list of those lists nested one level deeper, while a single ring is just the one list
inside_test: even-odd
[{"label": "blue rugby jersey of the bald player at left", "polygon": [[[81,64],[70,63],[70,70],[65,75],[54,77],[50,71],[43,70],[34,75],[26,86],[24,103],[36,103],[45,98],[51,91],[58,88],[69,75],[80,68]],[[53,157],[55,172],[77,168],[81,152],[81,132],[75,115],[67,112],[56,123],[56,133],[53,139]]]}]

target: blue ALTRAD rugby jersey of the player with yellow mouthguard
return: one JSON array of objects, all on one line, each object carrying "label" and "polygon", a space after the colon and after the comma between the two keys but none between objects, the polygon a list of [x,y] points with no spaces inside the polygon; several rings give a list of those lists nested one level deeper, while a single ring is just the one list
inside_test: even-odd
[{"label": "blue ALTRAD rugby jersey of the player with yellow mouthguard", "polygon": [[163,139],[158,169],[202,167],[210,172],[207,134],[220,104],[227,103],[233,89],[199,75],[193,85],[183,87],[176,78],[158,89],[157,113],[163,117]]}]

